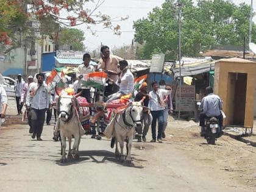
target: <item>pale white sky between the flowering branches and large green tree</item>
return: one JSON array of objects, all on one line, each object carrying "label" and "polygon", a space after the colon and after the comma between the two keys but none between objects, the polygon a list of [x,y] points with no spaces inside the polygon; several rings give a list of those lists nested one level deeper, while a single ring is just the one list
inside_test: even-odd
[{"label": "pale white sky between the flowering branches and large green tree", "polygon": [[[97,0],[95,0],[97,1]],[[160,7],[165,0],[105,0],[104,4],[98,8],[98,12],[110,15],[112,18],[121,18],[129,16],[128,20],[119,21],[113,23],[114,25],[119,24],[121,26],[121,35],[113,34],[110,29],[104,29],[101,24],[91,26],[91,29],[96,30],[96,34],[91,34],[85,25],[77,26],[76,28],[81,29],[85,32],[85,47],[87,51],[93,51],[101,46],[101,43],[110,47],[121,47],[132,43],[134,29],[133,21],[140,18],[146,18],[148,13],[152,11],[154,7]],[[235,4],[245,2],[251,4],[251,0],[233,0]],[[90,2],[88,5],[89,9],[93,9],[93,3]],[[256,10],[256,2],[254,2],[254,10]],[[256,16],[254,18],[254,21]]]}]

